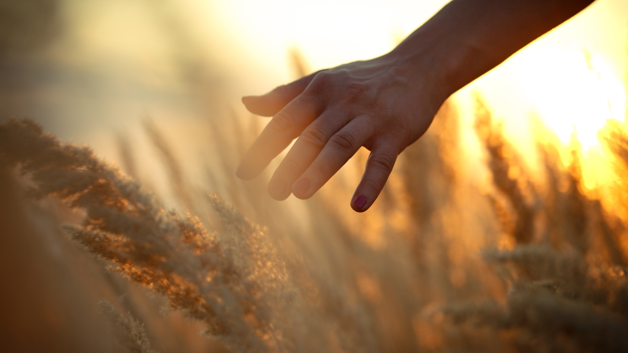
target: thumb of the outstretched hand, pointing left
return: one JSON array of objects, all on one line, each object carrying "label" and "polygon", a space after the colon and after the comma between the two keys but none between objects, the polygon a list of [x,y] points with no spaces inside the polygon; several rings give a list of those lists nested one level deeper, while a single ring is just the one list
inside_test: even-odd
[{"label": "thumb of the outstretched hand, pointing left", "polygon": [[253,114],[274,116],[274,114],[281,111],[286,104],[295,99],[297,95],[300,95],[318,72],[301,77],[301,79],[290,82],[290,84],[281,85],[264,95],[242,97],[242,103],[244,103],[246,109]]}]

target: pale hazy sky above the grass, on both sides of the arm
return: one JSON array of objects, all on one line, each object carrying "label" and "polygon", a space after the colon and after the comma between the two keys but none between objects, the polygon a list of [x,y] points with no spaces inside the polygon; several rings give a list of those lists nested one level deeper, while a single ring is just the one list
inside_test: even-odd
[{"label": "pale hazy sky above the grass, on both sides of the arm", "polygon": [[[382,55],[445,3],[5,0],[0,115],[36,119],[107,160],[119,159],[124,133],[144,151],[136,132],[148,116],[167,124],[177,146],[193,149],[208,138],[196,126],[212,116],[256,119],[242,95]],[[455,99],[468,108],[480,92],[522,146],[533,114],[563,143],[576,131],[585,149],[594,148],[605,120],[623,119],[627,8],[596,1]],[[463,128],[463,138],[470,131]],[[142,155],[138,173],[155,176],[151,153]],[[200,173],[196,156],[185,155],[190,173]]]}]

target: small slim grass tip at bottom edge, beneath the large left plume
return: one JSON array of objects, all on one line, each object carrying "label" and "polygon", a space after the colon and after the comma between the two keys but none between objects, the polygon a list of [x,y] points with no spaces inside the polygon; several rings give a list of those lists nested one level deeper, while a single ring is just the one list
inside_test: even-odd
[{"label": "small slim grass tip at bottom edge, beneath the large left plume", "polygon": [[99,303],[100,311],[107,317],[116,334],[117,343],[127,353],[157,353],[151,348],[151,342],[144,330],[144,324],[134,318],[129,312],[127,317],[114,307],[109,301],[103,299]]}]

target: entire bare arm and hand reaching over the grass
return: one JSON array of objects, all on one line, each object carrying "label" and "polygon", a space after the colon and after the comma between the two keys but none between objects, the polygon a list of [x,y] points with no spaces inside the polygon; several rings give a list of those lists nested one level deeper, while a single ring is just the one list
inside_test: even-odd
[{"label": "entire bare arm and hand reaching over the grass", "polygon": [[321,70],[268,94],[243,97],[272,116],[236,175],[250,180],[297,139],[268,192],[310,198],[364,146],[371,151],[351,198],[369,209],[397,156],[420,138],[445,99],[592,1],[454,0],[391,52]]}]

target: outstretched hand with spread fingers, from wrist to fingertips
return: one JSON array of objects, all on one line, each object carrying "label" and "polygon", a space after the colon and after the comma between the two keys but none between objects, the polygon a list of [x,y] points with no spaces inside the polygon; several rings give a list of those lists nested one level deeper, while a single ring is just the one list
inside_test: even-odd
[{"label": "outstretched hand with spread fingers, from wrist to fingertips", "polygon": [[290,193],[310,198],[364,146],[371,155],[351,206],[358,212],[369,209],[399,153],[425,133],[447,98],[420,68],[389,53],[244,97],[249,111],[273,119],[247,151],[237,176],[254,178],[298,138],[268,192],[276,200]]}]

